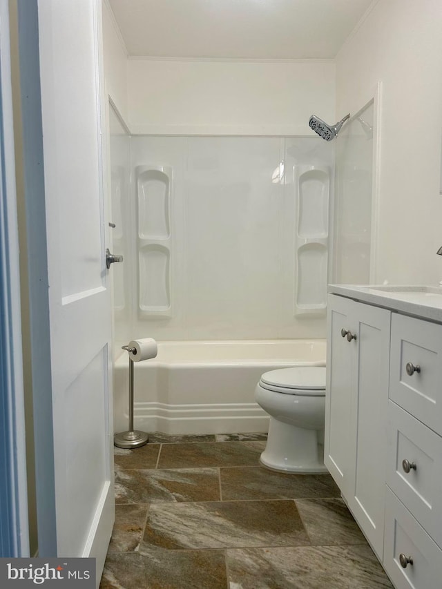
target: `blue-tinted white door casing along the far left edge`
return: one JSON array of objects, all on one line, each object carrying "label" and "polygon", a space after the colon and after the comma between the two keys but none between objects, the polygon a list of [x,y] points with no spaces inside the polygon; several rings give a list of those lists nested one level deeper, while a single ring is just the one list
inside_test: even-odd
[{"label": "blue-tinted white door casing along the far left edge", "polygon": [[0,548],[29,556],[25,405],[8,0],[0,0]]}]

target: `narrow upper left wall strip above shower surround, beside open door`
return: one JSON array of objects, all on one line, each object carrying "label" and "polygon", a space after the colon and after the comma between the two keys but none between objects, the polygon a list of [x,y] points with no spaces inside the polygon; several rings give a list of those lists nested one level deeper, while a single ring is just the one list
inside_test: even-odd
[{"label": "narrow upper left wall strip above shower surround, beside open door", "polygon": [[103,1],[103,53],[106,92],[127,121],[127,51],[107,0]]}]

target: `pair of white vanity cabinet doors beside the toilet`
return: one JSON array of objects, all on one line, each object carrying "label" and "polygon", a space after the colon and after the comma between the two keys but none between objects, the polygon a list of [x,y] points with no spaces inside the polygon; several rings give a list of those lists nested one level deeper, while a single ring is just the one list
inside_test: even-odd
[{"label": "pair of white vanity cabinet doors beside the toilet", "polygon": [[329,295],[325,465],[383,554],[390,311]]}]

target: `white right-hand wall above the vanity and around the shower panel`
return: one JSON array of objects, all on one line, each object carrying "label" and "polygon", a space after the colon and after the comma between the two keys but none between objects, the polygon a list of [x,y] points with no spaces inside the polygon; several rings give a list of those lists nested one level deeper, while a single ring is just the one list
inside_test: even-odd
[{"label": "white right-hand wall above the vanity and around the shower panel", "polygon": [[336,59],[336,116],[381,97],[375,282],[442,279],[442,3],[383,0]]}]

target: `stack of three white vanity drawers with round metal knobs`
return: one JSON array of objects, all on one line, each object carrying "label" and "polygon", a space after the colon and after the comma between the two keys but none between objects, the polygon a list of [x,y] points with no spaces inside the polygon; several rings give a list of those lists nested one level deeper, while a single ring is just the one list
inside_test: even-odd
[{"label": "stack of three white vanity drawers with round metal knobs", "polygon": [[390,363],[383,565],[398,589],[433,589],[442,587],[442,325],[392,313]]}]

